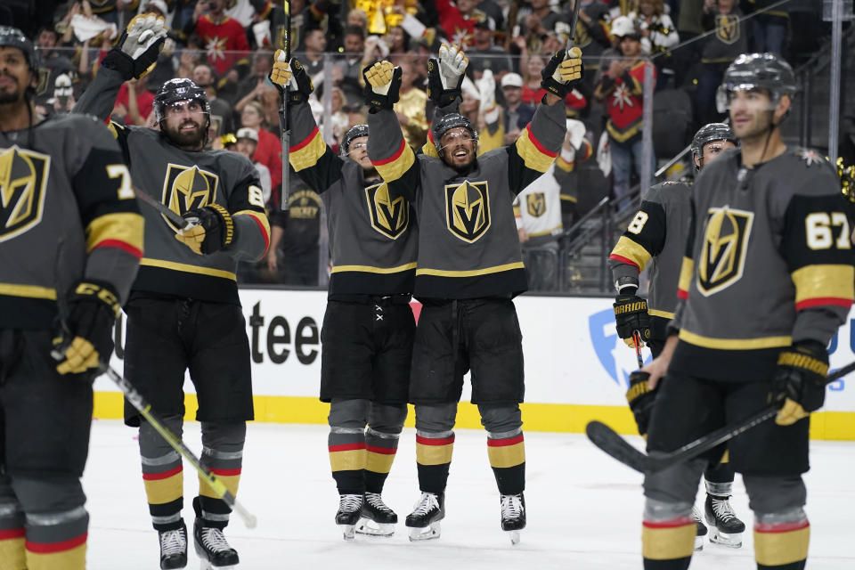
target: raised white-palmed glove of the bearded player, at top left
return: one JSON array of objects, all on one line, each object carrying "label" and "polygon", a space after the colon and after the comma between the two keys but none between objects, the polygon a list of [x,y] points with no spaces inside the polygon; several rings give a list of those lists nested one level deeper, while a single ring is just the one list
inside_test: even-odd
[{"label": "raised white-palmed glove of the bearded player, at top left", "polygon": [[153,14],[134,16],[116,46],[104,56],[102,65],[116,69],[125,80],[139,79],[154,68],[166,38],[162,18]]}]

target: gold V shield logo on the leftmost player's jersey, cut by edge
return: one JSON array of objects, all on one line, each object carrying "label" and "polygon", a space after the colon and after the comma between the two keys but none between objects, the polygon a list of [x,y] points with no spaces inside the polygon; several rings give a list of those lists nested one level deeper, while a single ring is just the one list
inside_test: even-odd
[{"label": "gold V shield logo on the leftmost player's jersey, cut by edge", "polygon": [[0,149],[0,242],[42,221],[51,157],[12,146]]}]

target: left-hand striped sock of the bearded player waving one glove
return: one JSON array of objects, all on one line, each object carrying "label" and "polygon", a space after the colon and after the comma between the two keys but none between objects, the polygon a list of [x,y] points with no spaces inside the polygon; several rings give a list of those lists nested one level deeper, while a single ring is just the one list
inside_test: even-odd
[{"label": "left-hand striped sock of the bearded player waving one glove", "polygon": [[[182,436],[182,423],[183,419],[178,416],[163,419],[164,426],[178,438]],[[140,424],[140,460],[151,524],[159,531],[181,528],[184,506],[181,455],[144,420]]]}]

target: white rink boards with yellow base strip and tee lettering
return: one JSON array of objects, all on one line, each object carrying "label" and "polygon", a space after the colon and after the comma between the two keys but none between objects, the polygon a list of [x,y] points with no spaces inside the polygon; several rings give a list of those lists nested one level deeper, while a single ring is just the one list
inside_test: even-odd
[{"label": "white rink boards with yellow base strip and tee lettering", "polygon": [[[252,352],[256,421],[326,423],[329,405],[317,399],[326,291],[241,289],[240,300]],[[624,398],[629,374],[637,367],[635,352],[615,334],[612,299],[523,296],[516,305],[525,353],[525,429],[582,432],[590,419],[600,419],[618,431],[635,433]],[[419,305],[413,310],[418,314]],[[123,324],[112,360],[118,371]],[[855,361],[853,329],[855,313],[832,341],[832,368]],[[184,389],[192,419],[196,398],[189,376]],[[95,390],[94,415],[120,418],[122,398],[110,380],[96,380]],[[467,382],[458,426],[480,428],[468,398]],[[855,376],[829,386],[824,411],[813,416],[811,436],[855,440]]]}]

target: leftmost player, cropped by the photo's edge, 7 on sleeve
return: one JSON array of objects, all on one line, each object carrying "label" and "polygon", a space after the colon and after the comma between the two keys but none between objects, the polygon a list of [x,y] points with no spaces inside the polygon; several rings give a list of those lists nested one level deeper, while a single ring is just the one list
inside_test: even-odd
[{"label": "leftmost player, cropped by the photo's edge, 7 on sleeve", "polygon": [[37,77],[33,44],[0,26],[0,568],[83,570],[92,381],[142,216],[107,128],[37,117]]}]

